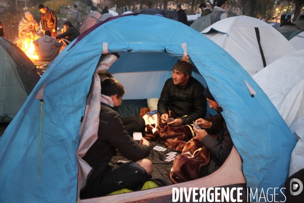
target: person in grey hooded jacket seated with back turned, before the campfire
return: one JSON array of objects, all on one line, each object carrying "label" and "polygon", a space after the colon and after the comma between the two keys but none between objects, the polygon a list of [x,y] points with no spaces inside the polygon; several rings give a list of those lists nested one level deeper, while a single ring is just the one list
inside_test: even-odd
[{"label": "person in grey hooded jacket seated with back turned, before the campfire", "polygon": [[35,45],[35,50],[39,59],[46,61],[51,61],[56,58],[60,52],[60,47],[62,46],[62,43],[55,41],[51,37],[50,30],[46,30],[45,35],[42,38],[33,41],[33,44]]}]

